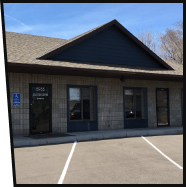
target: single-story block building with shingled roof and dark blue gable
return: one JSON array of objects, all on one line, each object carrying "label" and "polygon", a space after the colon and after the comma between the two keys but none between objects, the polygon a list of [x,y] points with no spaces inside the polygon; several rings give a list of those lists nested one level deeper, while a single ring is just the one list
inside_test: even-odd
[{"label": "single-story block building with shingled roof and dark blue gable", "polygon": [[13,135],[183,125],[183,65],[118,21],[70,40],[5,34]]}]

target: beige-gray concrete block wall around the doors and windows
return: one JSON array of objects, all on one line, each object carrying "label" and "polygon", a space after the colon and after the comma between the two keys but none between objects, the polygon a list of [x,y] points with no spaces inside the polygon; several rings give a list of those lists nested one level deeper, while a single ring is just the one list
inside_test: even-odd
[{"label": "beige-gray concrete block wall around the doors and windows", "polygon": [[[29,83],[52,84],[52,132],[67,132],[66,85],[97,86],[98,130],[123,129],[123,87],[146,87],[148,126],[157,127],[156,88],[169,88],[170,126],[182,125],[182,82],[126,80],[63,75],[9,73],[11,114],[14,135],[29,134]],[[21,94],[21,105],[13,106],[13,93]]]}]

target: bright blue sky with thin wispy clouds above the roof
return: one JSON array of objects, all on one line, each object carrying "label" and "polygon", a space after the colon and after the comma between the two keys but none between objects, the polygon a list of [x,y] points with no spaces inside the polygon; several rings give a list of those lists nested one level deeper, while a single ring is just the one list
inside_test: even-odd
[{"label": "bright blue sky with thin wispy clouds above the roof", "polygon": [[113,19],[132,34],[165,32],[183,21],[183,3],[3,3],[5,30],[70,39]]}]

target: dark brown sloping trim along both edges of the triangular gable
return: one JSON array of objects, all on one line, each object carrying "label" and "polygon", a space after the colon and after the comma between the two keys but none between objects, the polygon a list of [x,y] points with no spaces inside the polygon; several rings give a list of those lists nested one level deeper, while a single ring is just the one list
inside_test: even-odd
[{"label": "dark brown sloping trim along both edges of the triangular gable", "polygon": [[138,47],[140,47],[140,49],[142,49],[147,55],[149,55],[150,57],[152,57],[153,59],[156,60],[156,62],[158,64],[160,64],[161,66],[165,67],[168,70],[173,70],[173,68],[171,66],[169,66],[166,62],[164,62],[159,56],[157,56],[154,52],[152,52],[147,46],[145,46],[140,40],[138,40],[133,34],[131,34],[125,27],[123,27],[117,20],[112,20],[106,24],[104,24],[103,26],[93,30],[92,32],[85,34],[83,36],[81,36],[80,38],[77,38],[75,40],[73,40],[70,43],[67,43],[63,46],[61,46],[60,48],[57,48],[47,54],[44,54],[41,57],[38,57],[37,59],[47,59],[53,55],[55,55],[56,53],[59,53],[69,47],[72,47],[73,45],[82,42],[83,40],[97,34],[98,32],[101,32],[102,30],[110,27],[110,26],[114,26],[116,29],[118,29],[123,35],[125,35],[128,39],[130,39],[135,45],[137,45]]}]

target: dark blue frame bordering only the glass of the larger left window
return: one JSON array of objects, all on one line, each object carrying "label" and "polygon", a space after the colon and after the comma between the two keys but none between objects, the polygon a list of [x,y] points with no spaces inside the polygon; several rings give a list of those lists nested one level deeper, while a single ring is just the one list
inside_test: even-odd
[{"label": "dark blue frame bordering only the glass of the larger left window", "polygon": [[[95,88],[95,104],[96,104],[96,112],[95,112],[95,121],[91,121],[91,120],[70,120],[70,115],[69,115],[69,88],[90,88],[90,87],[93,87]],[[81,91],[80,91],[81,93]],[[97,86],[94,86],[94,85],[67,85],[67,122],[68,123],[77,123],[77,122],[97,122],[98,121],[98,109],[97,109]]]}]

